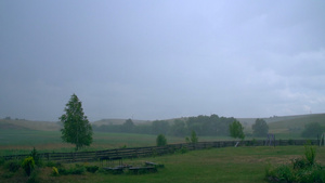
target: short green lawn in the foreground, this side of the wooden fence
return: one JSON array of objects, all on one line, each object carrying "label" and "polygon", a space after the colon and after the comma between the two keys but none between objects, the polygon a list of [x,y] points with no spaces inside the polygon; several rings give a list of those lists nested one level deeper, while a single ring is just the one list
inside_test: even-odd
[{"label": "short green lawn in the foreground, this side of the wooden fence", "polygon": [[[316,161],[325,162],[325,147],[316,148]],[[113,183],[213,183],[238,182],[262,183],[264,171],[269,164],[288,164],[290,159],[303,155],[303,146],[282,147],[225,147],[194,151],[186,154],[173,154],[140,159],[125,159],[123,164],[141,165],[144,161],[153,161],[165,165],[156,173],[147,174],[104,174],[89,173],[83,175],[52,177],[51,168],[39,169],[40,182],[113,182]],[[117,162],[116,162],[117,164]],[[83,165],[96,165],[101,162],[83,162]],[[323,164],[324,165],[324,164]],[[74,165],[65,165],[74,166]],[[6,171],[0,171],[0,182],[26,182],[27,177],[23,170],[18,170],[12,178],[6,178]]]}]

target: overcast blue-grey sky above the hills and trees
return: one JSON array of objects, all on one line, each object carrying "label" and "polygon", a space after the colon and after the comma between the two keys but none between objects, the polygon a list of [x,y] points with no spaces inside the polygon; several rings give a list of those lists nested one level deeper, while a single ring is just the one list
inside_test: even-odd
[{"label": "overcast blue-grey sky above the hills and trees", "polygon": [[325,1],[0,1],[0,118],[325,112]]}]

